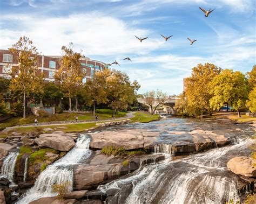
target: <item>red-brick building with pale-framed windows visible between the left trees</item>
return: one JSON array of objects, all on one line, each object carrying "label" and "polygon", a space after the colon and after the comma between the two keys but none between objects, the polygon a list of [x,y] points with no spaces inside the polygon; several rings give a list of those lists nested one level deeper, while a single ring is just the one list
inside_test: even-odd
[{"label": "red-brick building with pale-framed windows visible between the left trees", "polygon": [[[60,68],[62,56],[38,55],[38,69],[44,73],[44,81],[55,81],[54,73]],[[86,69],[83,83],[93,78],[96,72],[103,71],[107,66],[104,62],[84,57],[80,59],[81,68]],[[12,67],[18,66],[17,56],[9,50],[0,50],[0,77],[11,78]],[[18,73],[17,73],[18,74]]]}]

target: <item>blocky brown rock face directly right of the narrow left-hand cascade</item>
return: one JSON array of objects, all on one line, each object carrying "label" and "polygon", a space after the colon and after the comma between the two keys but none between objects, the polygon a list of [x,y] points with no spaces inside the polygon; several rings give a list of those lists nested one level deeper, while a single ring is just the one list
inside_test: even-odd
[{"label": "blocky brown rock face directly right of the narrow left-hand cascade", "polygon": [[73,172],[74,189],[84,190],[129,173],[129,166],[123,166],[122,164],[77,165]]}]

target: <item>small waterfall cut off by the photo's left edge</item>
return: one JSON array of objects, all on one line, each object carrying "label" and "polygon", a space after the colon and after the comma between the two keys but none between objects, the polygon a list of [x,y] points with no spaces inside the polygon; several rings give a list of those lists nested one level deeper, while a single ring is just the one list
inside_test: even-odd
[{"label": "small waterfall cut off by the photo's left edge", "polygon": [[18,152],[10,152],[3,162],[1,175],[10,181],[14,178],[14,168],[18,154]]}]

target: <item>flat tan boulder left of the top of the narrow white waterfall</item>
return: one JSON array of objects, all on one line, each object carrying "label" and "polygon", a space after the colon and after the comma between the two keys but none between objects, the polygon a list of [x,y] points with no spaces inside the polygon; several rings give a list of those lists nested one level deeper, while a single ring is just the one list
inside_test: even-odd
[{"label": "flat tan boulder left of the top of the narrow white waterfall", "polygon": [[35,139],[38,146],[47,146],[59,151],[69,151],[75,146],[73,139],[62,133],[46,133]]}]

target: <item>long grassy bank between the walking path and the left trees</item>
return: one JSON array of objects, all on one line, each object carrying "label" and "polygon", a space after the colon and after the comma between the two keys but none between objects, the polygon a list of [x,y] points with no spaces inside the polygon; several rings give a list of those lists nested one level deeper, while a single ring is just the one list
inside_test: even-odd
[{"label": "long grassy bank between the walking path and the left trees", "polygon": [[[99,119],[110,119],[112,114],[96,114]],[[5,127],[11,127],[15,125],[23,125],[34,123],[35,118],[37,118],[39,123],[50,122],[50,121],[75,121],[76,116],[78,116],[78,120],[92,120],[95,117],[92,114],[75,114],[69,112],[63,112],[62,114],[49,115],[48,117],[38,117],[34,115],[28,115],[26,118],[22,117],[12,117],[2,121],[0,123],[0,129],[4,129]],[[126,114],[124,112],[119,112],[119,114],[115,115],[116,118],[124,117]]]}]

